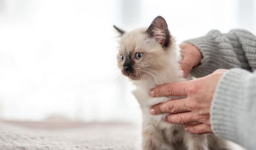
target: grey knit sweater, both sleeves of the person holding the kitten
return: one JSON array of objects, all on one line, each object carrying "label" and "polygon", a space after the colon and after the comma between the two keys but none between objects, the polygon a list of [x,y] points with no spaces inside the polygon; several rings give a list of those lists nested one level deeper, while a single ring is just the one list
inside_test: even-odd
[{"label": "grey knit sweater, both sleeves of the person holding the kitten", "polygon": [[197,46],[203,56],[201,64],[192,69],[195,77],[216,69],[230,69],[222,76],[213,96],[213,133],[247,150],[256,150],[256,36],[246,30],[226,34],[212,30],[187,42]]}]

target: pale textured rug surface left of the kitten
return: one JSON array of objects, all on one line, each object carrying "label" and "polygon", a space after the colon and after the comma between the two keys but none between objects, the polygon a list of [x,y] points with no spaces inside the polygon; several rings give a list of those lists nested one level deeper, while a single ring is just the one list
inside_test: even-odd
[{"label": "pale textured rug surface left of the kitten", "polygon": [[0,150],[139,150],[139,126],[0,122]]}]

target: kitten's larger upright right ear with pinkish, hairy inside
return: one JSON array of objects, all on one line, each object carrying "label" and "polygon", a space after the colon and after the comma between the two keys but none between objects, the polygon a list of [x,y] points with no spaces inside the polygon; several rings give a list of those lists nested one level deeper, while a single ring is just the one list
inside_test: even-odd
[{"label": "kitten's larger upright right ear with pinkish, hairy inside", "polygon": [[167,48],[169,45],[171,45],[171,35],[168,30],[167,23],[161,16],[157,16],[152,21],[149,28],[146,30],[146,33],[150,38],[154,38],[156,41],[158,41],[163,48]]}]

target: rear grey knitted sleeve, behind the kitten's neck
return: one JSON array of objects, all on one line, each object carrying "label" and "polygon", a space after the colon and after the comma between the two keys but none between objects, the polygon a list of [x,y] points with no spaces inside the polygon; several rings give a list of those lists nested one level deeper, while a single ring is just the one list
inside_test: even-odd
[{"label": "rear grey knitted sleeve, behind the kitten's neck", "polygon": [[220,68],[256,69],[256,36],[246,30],[231,30],[226,34],[212,30],[206,36],[185,42],[198,47],[203,57],[201,64],[191,71],[197,78]]}]

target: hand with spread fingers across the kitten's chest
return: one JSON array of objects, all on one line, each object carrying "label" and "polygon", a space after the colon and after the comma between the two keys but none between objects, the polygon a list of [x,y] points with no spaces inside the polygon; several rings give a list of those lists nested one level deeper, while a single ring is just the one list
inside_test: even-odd
[{"label": "hand with spread fingers across the kitten's chest", "polygon": [[[150,96],[187,96],[152,106],[150,114],[171,113],[169,123],[188,124],[185,130],[195,134],[213,133],[210,128],[210,105],[220,77],[226,69],[191,81],[168,83],[153,88]],[[189,124],[195,123],[195,124]]]}]

